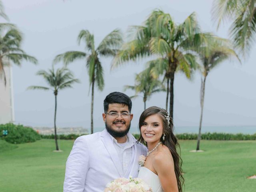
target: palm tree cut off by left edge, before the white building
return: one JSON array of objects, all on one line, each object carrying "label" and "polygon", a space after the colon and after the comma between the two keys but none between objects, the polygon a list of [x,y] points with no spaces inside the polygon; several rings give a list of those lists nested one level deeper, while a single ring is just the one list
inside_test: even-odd
[{"label": "palm tree cut off by left edge, before the white building", "polygon": [[[7,32],[5,31],[8,28]],[[6,76],[4,66],[9,65],[9,60],[20,66],[21,60],[27,60],[37,64],[36,58],[26,54],[21,48],[21,33],[12,24],[0,24],[0,75],[4,75],[4,84],[6,85]]]}]

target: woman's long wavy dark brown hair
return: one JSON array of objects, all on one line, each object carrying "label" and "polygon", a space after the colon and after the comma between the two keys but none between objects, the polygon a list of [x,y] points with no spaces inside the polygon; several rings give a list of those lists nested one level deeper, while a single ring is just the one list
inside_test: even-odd
[{"label": "woman's long wavy dark brown hair", "polygon": [[[167,113],[167,111],[162,108],[152,106],[152,107],[149,107],[146,110],[144,110],[144,112],[142,112],[142,114],[140,115],[139,128],[141,128],[142,124],[144,123],[144,120],[148,116],[154,115],[154,114],[158,114],[160,116],[160,118],[162,119],[163,134],[165,134],[165,140],[163,140],[163,137],[161,137],[160,141],[162,141],[162,143],[168,147],[168,149],[170,150],[170,152],[172,154],[172,158],[174,161],[174,172],[176,175],[178,190],[179,190],[179,192],[182,192],[182,186],[184,184],[184,178],[182,176],[182,169],[181,169],[182,159],[180,158],[180,155],[178,154],[178,152],[176,150],[176,148],[179,148],[179,150],[180,150],[180,145],[177,141],[176,136],[173,133],[174,126],[173,126],[172,118],[170,118],[170,120],[169,120],[170,124],[168,125],[168,121],[165,117],[165,116],[169,115]],[[138,139],[138,142],[146,144],[146,142],[144,141],[144,139],[142,137],[141,131],[140,131],[140,138]]]}]

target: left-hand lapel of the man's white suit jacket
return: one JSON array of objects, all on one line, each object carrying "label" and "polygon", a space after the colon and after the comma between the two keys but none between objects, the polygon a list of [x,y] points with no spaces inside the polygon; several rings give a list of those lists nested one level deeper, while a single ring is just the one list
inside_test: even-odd
[{"label": "left-hand lapel of the man's white suit jacket", "polygon": [[122,165],[120,163],[120,160],[118,158],[118,154],[116,152],[116,148],[113,144],[112,138],[109,136],[107,130],[105,129],[104,131],[101,132],[101,140],[106,147],[106,150],[108,151],[120,177],[124,176],[123,170],[122,170]]}]

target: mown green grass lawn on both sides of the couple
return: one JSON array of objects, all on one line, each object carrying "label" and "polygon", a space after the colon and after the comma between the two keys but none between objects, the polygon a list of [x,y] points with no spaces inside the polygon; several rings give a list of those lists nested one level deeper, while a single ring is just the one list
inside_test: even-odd
[{"label": "mown green grass lawn on both sides of the couple", "polygon": [[[71,140],[59,140],[63,152],[52,152],[54,140],[43,139],[0,150],[0,191],[61,192],[72,145]],[[246,179],[256,174],[256,141],[203,140],[202,153],[189,152],[196,148],[194,140],[180,145],[185,192],[256,191],[256,180]]]}]

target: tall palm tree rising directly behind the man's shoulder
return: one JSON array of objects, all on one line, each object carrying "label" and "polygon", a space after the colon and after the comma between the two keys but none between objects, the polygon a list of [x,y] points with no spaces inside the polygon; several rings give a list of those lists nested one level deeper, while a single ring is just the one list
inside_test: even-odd
[{"label": "tall palm tree rising directly behind the man's shoulder", "polygon": [[68,51],[57,55],[54,63],[63,60],[64,64],[69,64],[77,59],[86,59],[86,68],[89,74],[90,88],[92,88],[91,101],[91,133],[93,133],[93,103],[94,103],[94,84],[100,91],[104,88],[103,68],[100,62],[100,56],[115,56],[122,44],[122,35],[119,30],[113,30],[108,34],[99,46],[95,48],[94,35],[88,30],[81,30],[78,35],[78,43],[81,40],[86,43],[86,52]]}]

